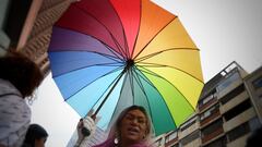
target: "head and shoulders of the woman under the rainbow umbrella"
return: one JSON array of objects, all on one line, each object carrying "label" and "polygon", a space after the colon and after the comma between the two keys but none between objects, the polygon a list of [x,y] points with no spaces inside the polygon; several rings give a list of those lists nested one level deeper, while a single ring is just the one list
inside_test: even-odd
[{"label": "head and shoulders of the woman under the rainbow umbrella", "polygon": [[[152,123],[145,109],[131,106],[119,114],[108,138],[94,147],[150,147],[152,137]],[[83,144],[80,147],[84,147]]]}]

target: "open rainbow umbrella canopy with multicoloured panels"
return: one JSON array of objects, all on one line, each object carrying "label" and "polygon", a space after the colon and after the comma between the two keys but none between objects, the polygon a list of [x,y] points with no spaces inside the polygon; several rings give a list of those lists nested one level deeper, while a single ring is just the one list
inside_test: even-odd
[{"label": "open rainbow umbrella canopy with multicoloured panels", "polygon": [[126,107],[143,106],[155,134],[194,112],[203,87],[199,49],[179,19],[150,0],[82,0],[55,24],[53,79],[81,115],[107,130]]}]

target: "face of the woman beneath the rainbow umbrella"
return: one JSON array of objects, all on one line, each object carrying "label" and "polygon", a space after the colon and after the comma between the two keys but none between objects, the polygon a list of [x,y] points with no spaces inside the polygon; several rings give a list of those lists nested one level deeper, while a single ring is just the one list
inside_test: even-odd
[{"label": "face of the woman beneath the rainbow umbrella", "polygon": [[120,123],[121,142],[139,143],[146,136],[147,120],[140,110],[130,110]]}]

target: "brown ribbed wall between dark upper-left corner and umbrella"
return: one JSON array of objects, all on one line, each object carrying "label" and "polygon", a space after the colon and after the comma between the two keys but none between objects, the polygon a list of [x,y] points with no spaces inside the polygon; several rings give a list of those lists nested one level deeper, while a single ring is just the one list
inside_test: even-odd
[{"label": "brown ribbed wall between dark upper-left corner and umbrella", "polygon": [[71,2],[72,0],[33,0],[33,5],[27,16],[28,21],[25,24],[27,27],[24,28],[17,49],[31,57],[45,74],[48,74],[50,71],[47,49],[52,25]]}]

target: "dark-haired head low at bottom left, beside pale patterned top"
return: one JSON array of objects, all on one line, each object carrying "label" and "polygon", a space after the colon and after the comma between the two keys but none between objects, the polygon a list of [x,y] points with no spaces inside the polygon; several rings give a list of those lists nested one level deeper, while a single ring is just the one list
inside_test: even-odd
[{"label": "dark-haired head low at bottom left, beside pale patterned top", "polygon": [[48,133],[38,124],[31,124],[22,147],[45,147]]}]

